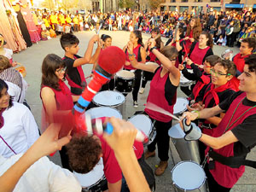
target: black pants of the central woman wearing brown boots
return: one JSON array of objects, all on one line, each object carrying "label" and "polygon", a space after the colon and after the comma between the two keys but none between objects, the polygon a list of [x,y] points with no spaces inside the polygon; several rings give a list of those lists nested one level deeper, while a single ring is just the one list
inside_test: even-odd
[{"label": "black pants of the central woman wearing brown boots", "polygon": [[[151,119],[154,121],[154,119]],[[154,127],[156,129],[156,137],[154,141],[148,145],[148,151],[153,152],[155,150],[155,144],[157,143],[158,157],[161,161],[166,161],[169,159],[169,143],[170,137],[168,131],[172,126],[172,120],[168,123],[161,121],[155,121]]]}]

